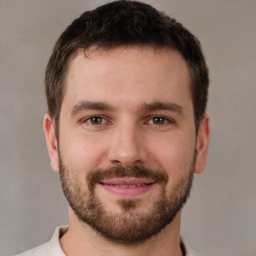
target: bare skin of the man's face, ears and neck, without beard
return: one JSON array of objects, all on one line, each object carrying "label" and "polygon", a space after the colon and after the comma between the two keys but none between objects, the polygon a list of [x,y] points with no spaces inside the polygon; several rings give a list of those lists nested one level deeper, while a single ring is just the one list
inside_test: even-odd
[{"label": "bare skin of the man's face, ears and neck, without beard", "polygon": [[[161,168],[168,174],[166,193],[187,175],[197,149],[195,173],[206,164],[210,136],[209,116],[202,118],[195,134],[192,98],[186,62],[173,49],[125,47],[82,53],[70,61],[60,111],[59,149],[63,163],[73,171],[86,191],[86,175],[94,168],[116,164]],[[112,109],[77,108],[81,102],[103,102]],[[145,109],[144,104],[168,102],[172,109]],[[76,106],[76,108],[75,108]],[[78,111],[74,111],[78,109]],[[90,116],[101,124],[91,124]],[[155,124],[154,116],[164,117]],[[43,128],[51,167],[59,171],[54,120],[46,113]],[[155,183],[138,195],[120,195],[96,185],[105,208],[121,212],[118,199],[141,199],[136,211],[146,212],[161,187]],[[104,240],[81,223],[69,208],[69,229],[60,238],[66,255],[182,255],[179,246],[180,214],[160,233],[136,246],[121,246]]]}]

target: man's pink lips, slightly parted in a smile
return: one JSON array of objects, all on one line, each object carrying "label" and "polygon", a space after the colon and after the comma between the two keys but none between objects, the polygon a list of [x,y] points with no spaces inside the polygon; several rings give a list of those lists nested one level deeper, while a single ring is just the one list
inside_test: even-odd
[{"label": "man's pink lips, slightly parted in a smile", "polygon": [[121,197],[138,196],[148,191],[154,184],[154,181],[145,178],[115,178],[99,182],[104,189]]}]

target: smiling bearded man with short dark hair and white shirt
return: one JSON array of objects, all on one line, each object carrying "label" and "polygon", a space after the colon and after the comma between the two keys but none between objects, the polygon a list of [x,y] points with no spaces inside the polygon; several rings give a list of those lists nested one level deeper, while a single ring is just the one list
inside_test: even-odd
[{"label": "smiling bearded man with short dark hair and white shirt", "polygon": [[199,255],[179,229],[206,164],[207,90],[198,40],[150,5],[75,19],[46,67],[43,120],[69,226],[21,255]]}]

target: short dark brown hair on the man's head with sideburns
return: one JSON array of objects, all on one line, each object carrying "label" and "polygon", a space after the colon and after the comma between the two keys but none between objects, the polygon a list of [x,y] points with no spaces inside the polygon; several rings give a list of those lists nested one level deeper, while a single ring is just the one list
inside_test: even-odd
[{"label": "short dark brown hair on the man's head with sideburns", "polygon": [[199,41],[174,18],[151,5],[118,0],[83,12],[64,30],[53,47],[45,71],[45,93],[57,136],[70,56],[90,46],[108,50],[125,45],[168,47],[182,54],[189,69],[195,129],[198,131],[205,113],[209,84]]}]

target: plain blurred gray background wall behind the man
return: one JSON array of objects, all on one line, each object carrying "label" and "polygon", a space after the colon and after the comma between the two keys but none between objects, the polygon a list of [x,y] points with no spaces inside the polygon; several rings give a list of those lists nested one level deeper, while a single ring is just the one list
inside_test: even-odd
[{"label": "plain blurred gray background wall behind the man", "polygon": [[[0,0],[0,255],[48,240],[67,205],[49,164],[43,73],[60,32],[105,0]],[[256,255],[256,2],[145,0],[201,41],[211,73],[208,164],[181,233],[208,256]]]}]

